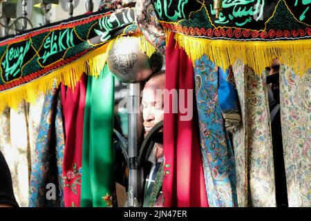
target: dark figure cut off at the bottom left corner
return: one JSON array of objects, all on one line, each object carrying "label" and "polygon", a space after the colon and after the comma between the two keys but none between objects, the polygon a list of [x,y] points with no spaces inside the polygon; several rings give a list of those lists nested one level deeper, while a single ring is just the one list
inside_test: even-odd
[{"label": "dark figure cut off at the bottom left corner", "polygon": [[15,200],[8,164],[0,151],[0,207],[19,206]]}]

